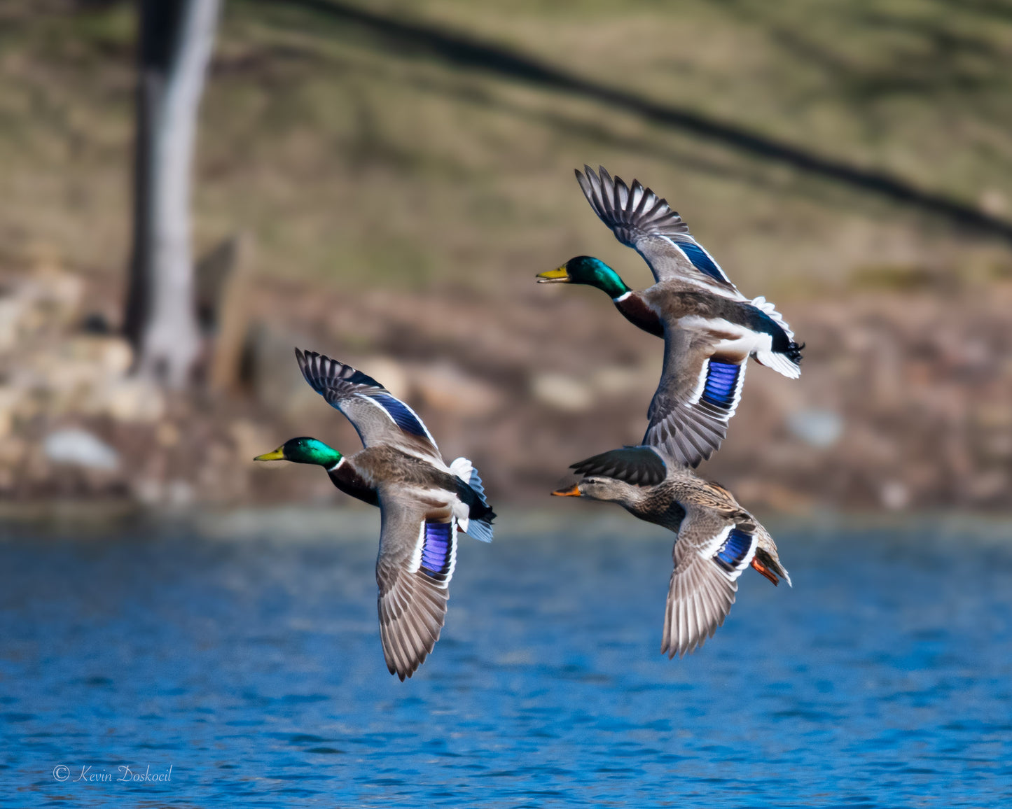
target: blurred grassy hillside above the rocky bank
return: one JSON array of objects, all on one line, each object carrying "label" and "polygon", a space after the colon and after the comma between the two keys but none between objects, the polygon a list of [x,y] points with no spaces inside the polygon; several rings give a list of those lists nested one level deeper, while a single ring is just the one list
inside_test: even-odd
[{"label": "blurred grassy hillside above the rocky bank", "polygon": [[[134,25],[121,2],[0,7],[4,265],[44,254],[118,289]],[[247,230],[261,275],[343,290],[494,294],[577,253],[645,284],[579,193],[572,168],[588,162],[666,196],[749,294],[1012,272],[999,238],[495,58],[461,67],[433,30],[1012,218],[1009,4],[229,0],[198,243]]]}]

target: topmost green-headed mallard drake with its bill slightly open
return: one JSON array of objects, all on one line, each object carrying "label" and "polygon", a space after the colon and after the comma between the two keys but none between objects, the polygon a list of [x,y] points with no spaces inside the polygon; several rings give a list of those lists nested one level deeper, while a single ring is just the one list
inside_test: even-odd
[{"label": "topmost green-headed mallard drake with its bill slightly open", "polygon": [[538,283],[589,284],[604,290],[626,320],[664,338],[661,382],[643,443],[697,466],[720,448],[735,415],[750,356],[784,376],[800,374],[802,349],[765,298],[748,300],[688,226],[639,181],[631,189],[603,169],[577,180],[601,220],[650,266],[656,283],[637,292],[599,259],[578,256]]}]

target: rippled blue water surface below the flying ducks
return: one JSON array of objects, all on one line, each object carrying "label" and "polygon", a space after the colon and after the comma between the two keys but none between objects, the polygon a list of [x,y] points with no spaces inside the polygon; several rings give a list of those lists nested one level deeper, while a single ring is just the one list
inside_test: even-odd
[{"label": "rippled blue water surface below the flying ducks", "polygon": [[0,806],[1012,806],[1012,527],[774,524],[668,660],[671,535],[572,506],[461,537],[405,683],[373,512],[3,529]]}]

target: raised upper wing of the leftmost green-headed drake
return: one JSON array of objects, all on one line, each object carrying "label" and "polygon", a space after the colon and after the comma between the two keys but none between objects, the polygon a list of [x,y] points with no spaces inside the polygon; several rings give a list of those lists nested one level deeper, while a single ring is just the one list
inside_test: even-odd
[{"label": "raised upper wing of the leftmost green-headed drake", "polygon": [[348,417],[366,447],[387,444],[444,466],[428,428],[411,408],[371,376],[315,351],[296,349],[303,376]]}]

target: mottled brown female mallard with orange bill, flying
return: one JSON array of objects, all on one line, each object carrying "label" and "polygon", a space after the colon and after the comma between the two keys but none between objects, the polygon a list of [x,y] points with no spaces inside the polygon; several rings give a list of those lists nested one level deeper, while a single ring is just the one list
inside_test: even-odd
[{"label": "mottled brown female mallard with orange bill, flying", "polygon": [[738,576],[750,564],[774,585],[780,577],[790,585],[759,521],[726,488],[672,463],[659,448],[615,449],[570,468],[583,479],[553,495],[617,503],[677,535],[661,640],[668,657],[712,637],[735,603]]}]

